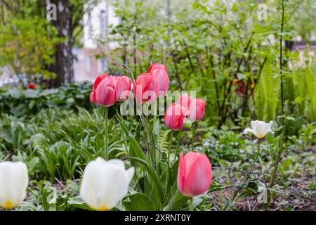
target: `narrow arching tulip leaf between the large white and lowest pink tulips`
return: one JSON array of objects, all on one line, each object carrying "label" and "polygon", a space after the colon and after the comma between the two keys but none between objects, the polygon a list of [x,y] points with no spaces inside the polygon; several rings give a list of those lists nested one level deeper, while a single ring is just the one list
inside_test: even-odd
[{"label": "narrow arching tulip leaf between the large white and lowest pink tulips", "polygon": [[162,181],[159,179],[158,174],[154,171],[154,168],[145,160],[135,157],[131,158],[147,169],[148,180],[154,189],[156,189],[160,203],[164,204],[164,187],[162,186]]}]

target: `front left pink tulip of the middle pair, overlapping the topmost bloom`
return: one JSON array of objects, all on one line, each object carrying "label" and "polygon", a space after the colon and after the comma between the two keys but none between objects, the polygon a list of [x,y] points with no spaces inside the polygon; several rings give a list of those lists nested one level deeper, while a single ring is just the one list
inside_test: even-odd
[{"label": "front left pink tulip of the middle pair, overlapping the topmost bloom", "polygon": [[134,97],[137,103],[152,103],[159,94],[157,79],[150,73],[142,73],[134,82]]}]

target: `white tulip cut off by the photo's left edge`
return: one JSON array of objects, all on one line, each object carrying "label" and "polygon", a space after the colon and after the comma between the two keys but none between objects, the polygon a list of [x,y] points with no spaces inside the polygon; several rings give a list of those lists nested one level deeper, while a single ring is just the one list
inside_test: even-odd
[{"label": "white tulip cut off by the photo's left edge", "polygon": [[0,162],[0,207],[12,210],[25,199],[29,176],[24,162]]}]

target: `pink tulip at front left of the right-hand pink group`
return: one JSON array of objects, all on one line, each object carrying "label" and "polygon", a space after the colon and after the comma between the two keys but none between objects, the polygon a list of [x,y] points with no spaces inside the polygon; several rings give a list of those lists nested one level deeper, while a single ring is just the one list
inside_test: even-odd
[{"label": "pink tulip at front left of the right-hand pink group", "polygon": [[185,108],[178,103],[172,103],[166,110],[164,122],[169,129],[180,130],[185,121]]}]

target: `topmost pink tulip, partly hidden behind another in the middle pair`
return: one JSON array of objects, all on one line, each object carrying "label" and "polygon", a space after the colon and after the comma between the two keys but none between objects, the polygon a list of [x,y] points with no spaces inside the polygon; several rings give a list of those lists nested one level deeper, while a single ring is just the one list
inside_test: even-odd
[{"label": "topmost pink tulip, partly hidden behind another in the middle pair", "polygon": [[169,75],[166,71],[166,66],[162,64],[154,63],[150,65],[148,72],[157,78],[159,85],[159,96],[166,94],[169,89]]}]

